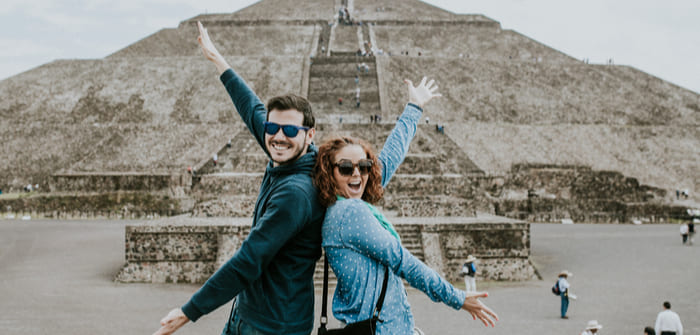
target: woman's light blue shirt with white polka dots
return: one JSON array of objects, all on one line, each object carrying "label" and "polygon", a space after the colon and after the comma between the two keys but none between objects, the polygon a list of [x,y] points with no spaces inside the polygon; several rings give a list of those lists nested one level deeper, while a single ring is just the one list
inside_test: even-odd
[{"label": "woman's light blue shirt with white polka dots", "polygon": [[[408,152],[422,110],[408,104],[389,134],[379,161],[382,187],[386,187]],[[433,301],[460,309],[466,299],[456,289],[401,245],[382,227],[361,199],[337,201],[328,207],[323,223],[323,248],[338,278],[333,296],[333,315],[345,323],[372,316],[381,293],[384,268],[389,268],[384,306],[377,334],[413,334],[413,315],[401,278]]]}]

